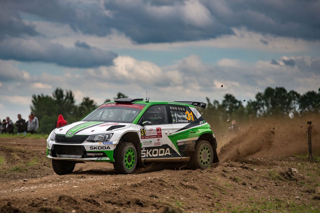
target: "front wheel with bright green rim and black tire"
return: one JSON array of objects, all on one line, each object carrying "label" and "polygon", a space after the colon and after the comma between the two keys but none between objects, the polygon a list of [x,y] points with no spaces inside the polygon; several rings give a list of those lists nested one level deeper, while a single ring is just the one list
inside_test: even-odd
[{"label": "front wheel with bright green rim and black tire", "polygon": [[[129,142],[120,142],[116,146],[115,152],[115,162],[113,164],[113,168],[115,168],[116,172],[118,172],[119,174],[132,173],[136,168],[138,161],[138,155],[135,146]],[[126,154],[128,154],[127,158]]]}]

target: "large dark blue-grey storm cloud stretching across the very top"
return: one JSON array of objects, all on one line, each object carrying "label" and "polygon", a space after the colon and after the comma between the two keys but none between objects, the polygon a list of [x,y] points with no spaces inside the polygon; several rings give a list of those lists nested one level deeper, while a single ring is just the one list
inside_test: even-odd
[{"label": "large dark blue-grey storm cloud stretching across the very top", "polygon": [[[100,3],[17,0],[7,1],[2,10],[23,11],[65,23],[83,34],[106,36],[116,29],[137,43],[205,40],[233,34],[232,27],[305,40],[320,39],[320,1],[105,0]],[[17,23],[21,24],[19,19]],[[35,33],[32,27],[22,24],[20,28],[23,27],[26,29],[21,29],[21,33]]]}]

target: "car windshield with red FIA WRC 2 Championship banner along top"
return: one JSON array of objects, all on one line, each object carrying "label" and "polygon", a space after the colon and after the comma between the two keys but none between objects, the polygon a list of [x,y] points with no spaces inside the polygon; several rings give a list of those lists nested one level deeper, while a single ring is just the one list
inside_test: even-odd
[{"label": "car windshield with red FIA WRC 2 Championship banner along top", "polygon": [[81,121],[132,123],[144,107],[144,104],[105,103]]}]

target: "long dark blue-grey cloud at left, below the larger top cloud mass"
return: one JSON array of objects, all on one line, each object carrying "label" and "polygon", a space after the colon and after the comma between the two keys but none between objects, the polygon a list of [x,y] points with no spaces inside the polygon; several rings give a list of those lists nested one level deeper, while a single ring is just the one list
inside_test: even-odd
[{"label": "long dark blue-grey cloud at left, below the larger top cloud mass", "polygon": [[0,41],[0,58],[26,62],[46,62],[67,67],[113,65],[117,54],[91,48],[66,48],[45,39],[12,38]]}]

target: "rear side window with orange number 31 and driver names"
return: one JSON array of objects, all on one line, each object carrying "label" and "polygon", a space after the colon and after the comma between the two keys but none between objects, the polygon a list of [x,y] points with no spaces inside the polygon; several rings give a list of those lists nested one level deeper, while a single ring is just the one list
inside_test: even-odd
[{"label": "rear side window with orange number 31 and driver names", "polygon": [[172,124],[192,123],[196,119],[189,107],[170,105],[169,109]]}]

